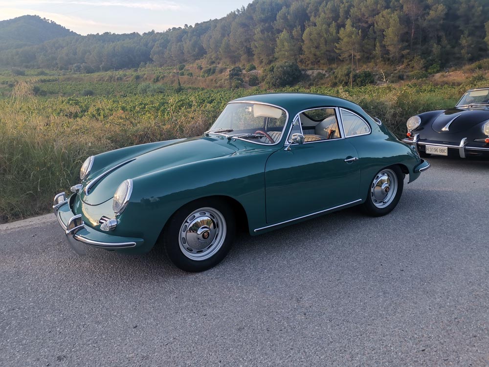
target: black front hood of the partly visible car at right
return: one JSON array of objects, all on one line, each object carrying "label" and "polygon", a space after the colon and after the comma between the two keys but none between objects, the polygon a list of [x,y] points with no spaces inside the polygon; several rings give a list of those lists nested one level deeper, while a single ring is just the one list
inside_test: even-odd
[{"label": "black front hood of the partly visible car at right", "polygon": [[[437,133],[457,134],[488,119],[489,111],[486,110],[461,110],[453,108],[438,115],[431,123],[431,128]],[[450,124],[448,125],[448,123]],[[447,125],[448,131],[444,131],[443,128]]]}]

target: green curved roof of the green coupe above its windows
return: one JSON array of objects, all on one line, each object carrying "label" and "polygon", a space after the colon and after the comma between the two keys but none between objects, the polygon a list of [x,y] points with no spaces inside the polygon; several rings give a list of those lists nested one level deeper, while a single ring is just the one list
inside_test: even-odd
[{"label": "green curved roof of the green coupe above its windows", "polygon": [[268,93],[237,98],[233,102],[262,102],[282,107],[294,117],[299,112],[317,107],[344,107],[361,113],[363,110],[353,102],[343,98],[313,93]]}]

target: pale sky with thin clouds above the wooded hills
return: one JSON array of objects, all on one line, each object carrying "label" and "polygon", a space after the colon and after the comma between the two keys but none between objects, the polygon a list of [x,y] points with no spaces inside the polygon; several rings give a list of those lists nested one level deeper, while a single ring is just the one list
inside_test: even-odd
[{"label": "pale sky with thin clouds above the wooded hills", "polygon": [[39,15],[76,33],[144,33],[222,18],[251,0],[0,0],[0,21]]}]

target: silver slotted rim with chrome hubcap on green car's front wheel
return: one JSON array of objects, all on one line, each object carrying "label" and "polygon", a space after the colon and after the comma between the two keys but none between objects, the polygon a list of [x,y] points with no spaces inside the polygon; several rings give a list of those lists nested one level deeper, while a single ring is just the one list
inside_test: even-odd
[{"label": "silver slotted rim with chrome hubcap on green car's front wheel", "polygon": [[219,210],[203,207],[193,211],[180,227],[178,244],[181,252],[192,260],[213,256],[224,243],[226,221]]}]

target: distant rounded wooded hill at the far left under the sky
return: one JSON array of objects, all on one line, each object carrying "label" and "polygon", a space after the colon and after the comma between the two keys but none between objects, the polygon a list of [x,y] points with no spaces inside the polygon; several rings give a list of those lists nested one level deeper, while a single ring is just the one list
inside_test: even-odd
[{"label": "distant rounded wooded hill at the far left under the sky", "polygon": [[39,45],[46,41],[75,36],[77,33],[37,15],[0,22],[0,50]]}]

